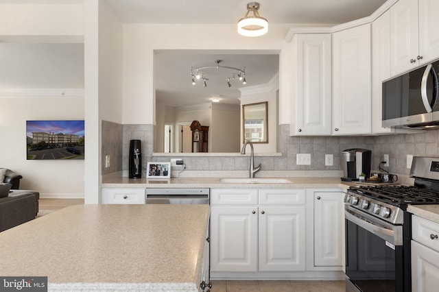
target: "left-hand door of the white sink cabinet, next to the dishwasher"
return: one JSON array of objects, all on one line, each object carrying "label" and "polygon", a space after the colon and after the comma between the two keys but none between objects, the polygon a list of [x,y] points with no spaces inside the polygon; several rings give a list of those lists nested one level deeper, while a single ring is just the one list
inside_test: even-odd
[{"label": "left-hand door of the white sink cabinet, next to the dishwasher", "polygon": [[257,271],[257,207],[211,207],[211,271]]}]

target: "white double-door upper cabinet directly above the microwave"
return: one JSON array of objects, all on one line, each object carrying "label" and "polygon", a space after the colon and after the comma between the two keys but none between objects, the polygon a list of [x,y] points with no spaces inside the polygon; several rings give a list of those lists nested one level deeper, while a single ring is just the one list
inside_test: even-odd
[{"label": "white double-door upper cabinet directly above the microwave", "polygon": [[399,0],[390,8],[392,76],[439,57],[437,0]]}]

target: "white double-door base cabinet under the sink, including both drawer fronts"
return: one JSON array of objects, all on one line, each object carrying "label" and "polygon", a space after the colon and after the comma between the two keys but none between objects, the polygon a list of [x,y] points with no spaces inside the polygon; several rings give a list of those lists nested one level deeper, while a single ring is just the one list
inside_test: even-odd
[{"label": "white double-door base cabinet under the sink, including both drawer fronts", "polygon": [[243,191],[211,190],[211,272],[305,271],[305,190]]}]

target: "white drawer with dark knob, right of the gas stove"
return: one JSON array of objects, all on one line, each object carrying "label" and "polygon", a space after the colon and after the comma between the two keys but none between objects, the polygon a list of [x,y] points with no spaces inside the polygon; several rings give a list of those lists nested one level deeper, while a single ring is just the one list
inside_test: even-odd
[{"label": "white drawer with dark knob, right of the gas stove", "polygon": [[[439,252],[439,224],[417,216],[412,217],[412,236],[414,241]],[[433,238],[433,239],[431,239]]]}]

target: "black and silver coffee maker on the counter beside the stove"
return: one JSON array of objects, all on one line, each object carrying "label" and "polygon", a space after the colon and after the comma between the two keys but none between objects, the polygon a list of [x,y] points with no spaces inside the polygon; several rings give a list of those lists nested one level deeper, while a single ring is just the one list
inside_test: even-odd
[{"label": "black and silver coffee maker on the counter beside the stove", "polygon": [[358,180],[361,173],[370,177],[370,165],[372,162],[372,151],[368,149],[346,149],[342,151],[342,171],[344,182]]}]

